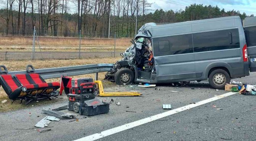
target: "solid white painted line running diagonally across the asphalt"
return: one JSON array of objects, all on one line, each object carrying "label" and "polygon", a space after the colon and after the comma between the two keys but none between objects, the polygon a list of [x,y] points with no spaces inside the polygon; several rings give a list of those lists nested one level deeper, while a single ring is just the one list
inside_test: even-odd
[{"label": "solid white painted line running diagonally across the asphalt", "polygon": [[213,102],[215,100],[222,99],[222,98],[227,97],[227,96],[232,96],[234,94],[237,94],[237,92],[228,92],[226,94],[222,94],[222,95],[219,95],[219,96],[216,96],[216,97],[212,97],[210,99],[202,100],[202,101],[197,102],[195,104],[194,103],[189,104],[189,105],[186,105],[184,107],[176,108],[176,109],[173,109],[173,110],[170,110],[170,111],[166,111],[164,113],[156,114],[154,116],[150,116],[150,117],[147,117],[147,118],[144,118],[144,119],[140,119],[138,121],[134,121],[134,122],[131,122],[131,123],[128,123],[128,124],[124,124],[124,125],[106,130],[106,131],[102,131],[101,133],[96,133],[96,134],[93,134],[93,135],[90,135],[90,136],[86,136],[86,137],[77,139],[75,141],[94,141],[96,139],[100,139],[100,138],[103,138],[105,136],[113,135],[115,133],[130,129],[130,128],[133,128],[133,127],[136,127],[136,126],[146,124],[148,122],[155,121],[157,119],[160,119],[160,118],[163,118],[163,117],[166,117],[166,116],[170,116],[172,114],[179,113],[181,111],[189,110],[191,108],[194,108],[194,107],[197,107],[197,106],[209,103],[209,102]]}]

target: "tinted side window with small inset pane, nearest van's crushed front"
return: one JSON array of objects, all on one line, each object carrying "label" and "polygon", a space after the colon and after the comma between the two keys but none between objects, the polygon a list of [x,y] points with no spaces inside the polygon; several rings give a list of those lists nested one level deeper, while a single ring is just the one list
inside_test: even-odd
[{"label": "tinted side window with small inset pane, nearest van's crushed front", "polygon": [[154,56],[193,53],[192,34],[154,38]]}]

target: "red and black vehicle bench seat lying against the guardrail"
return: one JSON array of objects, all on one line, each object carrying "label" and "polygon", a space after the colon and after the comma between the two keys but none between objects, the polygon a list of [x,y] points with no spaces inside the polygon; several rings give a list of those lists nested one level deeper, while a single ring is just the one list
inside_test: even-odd
[{"label": "red and black vehicle bench seat lying against the guardrail", "polygon": [[[46,81],[34,71],[28,70],[28,74],[10,75],[5,66],[0,66],[0,86],[2,85],[8,98],[13,100],[26,100],[26,105],[32,101],[41,99],[50,99],[51,96],[58,96],[54,94],[60,87],[59,82],[46,83]],[[32,70],[34,67],[30,65]],[[27,67],[28,68],[28,67]]]}]

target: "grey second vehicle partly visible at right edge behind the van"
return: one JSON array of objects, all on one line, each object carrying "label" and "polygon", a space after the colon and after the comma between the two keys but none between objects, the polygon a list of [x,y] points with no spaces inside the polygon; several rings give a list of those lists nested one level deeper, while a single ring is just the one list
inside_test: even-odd
[{"label": "grey second vehicle partly visible at right edge behind the van", "polygon": [[250,63],[250,72],[256,72],[256,17],[245,18],[245,38]]}]

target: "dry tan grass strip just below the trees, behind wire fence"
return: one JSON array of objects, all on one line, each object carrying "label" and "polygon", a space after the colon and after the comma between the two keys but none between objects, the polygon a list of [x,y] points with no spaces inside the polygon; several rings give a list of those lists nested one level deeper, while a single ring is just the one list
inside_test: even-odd
[{"label": "dry tan grass strip just below the trees, behind wire fence", "polygon": [[[116,39],[116,51],[125,51],[131,43],[130,38]],[[32,49],[33,38],[26,37],[0,37],[0,52],[28,52]],[[36,41],[36,51],[39,50]],[[77,52],[79,39],[77,38],[45,38],[39,37],[42,52]],[[114,51],[114,39],[82,39],[82,52]]]}]

